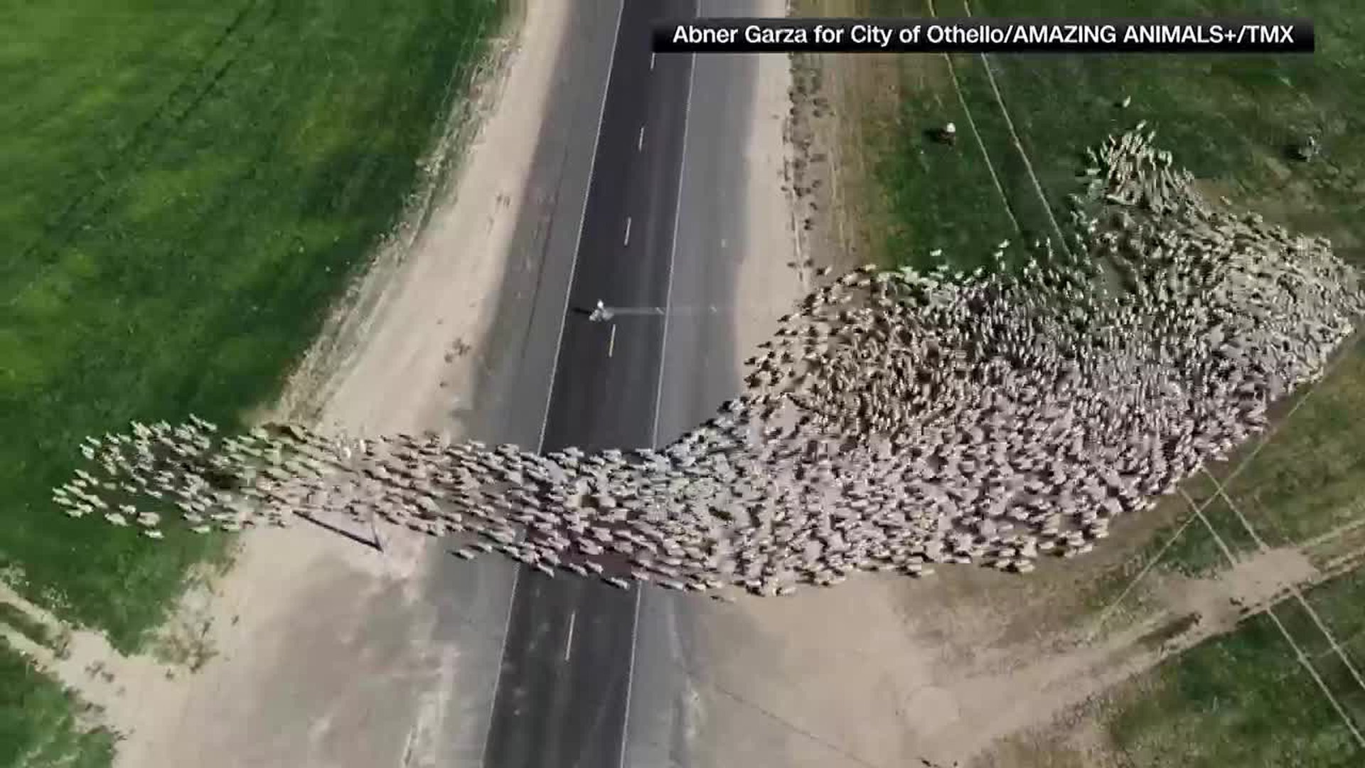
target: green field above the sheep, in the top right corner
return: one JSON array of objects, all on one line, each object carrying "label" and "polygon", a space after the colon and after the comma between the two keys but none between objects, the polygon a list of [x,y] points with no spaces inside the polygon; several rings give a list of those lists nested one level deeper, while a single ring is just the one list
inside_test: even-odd
[{"label": "green field above the sheep, in the top right corner", "polygon": [[[859,15],[931,15],[930,0],[812,3],[830,12],[837,5]],[[964,0],[936,0],[932,5],[939,16],[968,15]],[[885,104],[868,109],[876,112],[878,130],[867,150],[876,194],[885,198],[889,241],[870,245],[902,264],[928,265],[924,254],[942,247],[943,258],[973,265],[998,239],[1014,236],[1006,210],[1025,232],[1052,235],[1041,197],[1065,224],[1065,195],[1074,190],[1084,149],[1145,119],[1158,131],[1158,143],[1211,182],[1213,194],[1254,206],[1293,228],[1327,234],[1339,254],[1362,261],[1365,49],[1351,34],[1361,23],[1357,7],[1345,0],[1263,1],[1256,8],[1231,0],[971,3],[972,14],[998,16],[1253,11],[1316,15],[1331,25],[1319,30],[1319,52],[1310,56],[992,55],[990,72],[987,59],[979,55],[953,55],[951,68],[942,55],[900,57],[901,98],[894,111]],[[1132,97],[1130,107],[1118,108],[1125,97]],[[936,145],[925,134],[947,122],[958,127],[953,148]],[[1014,146],[1011,124],[1022,153]],[[1324,160],[1291,164],[1283,157],[1284,148],[1305,131],[1323,141]],[[977,133],[990,165],[973,135]]]}]

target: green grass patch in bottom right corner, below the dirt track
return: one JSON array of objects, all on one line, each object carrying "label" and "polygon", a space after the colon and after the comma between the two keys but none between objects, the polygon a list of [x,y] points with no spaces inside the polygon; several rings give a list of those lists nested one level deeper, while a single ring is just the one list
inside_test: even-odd
[{"label": "green grass patch in bottom right corner, below the dirt track", "polygon": [[[1207,529],[1192,533],[1209,536]],[[1365,749],[1323,686],[1360,728],[1365,689],[1342,659],[1357,671],[1365,660],[1361,594],[1365,574],[1360,571],[1304,593],[1338,640],[1340,655],[1297,601],[1272,608],[1321,686],[1263,612],[1111,691],[1089,717],[1108,737],[1110,749],[1123,756],[1123,765],[1360,765]]]}]

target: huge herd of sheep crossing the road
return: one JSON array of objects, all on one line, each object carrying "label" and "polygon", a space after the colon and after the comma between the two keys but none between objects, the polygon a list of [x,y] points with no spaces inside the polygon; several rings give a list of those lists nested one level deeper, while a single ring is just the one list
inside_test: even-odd
[{"label": "huge herd of sheep crossing the road", "polygon": [[741,395],[670,445],[221,436],[191,417],[89,437],[90,471],[53,500],[152,538],[175,518],[341,514],[621,588],[788,594],[1084,553],[1263,429],[1365,310],[1325,239],[1208,204],[1143,128],[1088,153],[1067,242],[1001,242],[971,273],[822,275]]}]

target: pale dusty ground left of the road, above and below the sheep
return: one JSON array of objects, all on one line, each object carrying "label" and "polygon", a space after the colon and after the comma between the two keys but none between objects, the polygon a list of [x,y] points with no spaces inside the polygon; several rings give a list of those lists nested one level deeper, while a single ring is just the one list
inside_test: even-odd
[{"label": "pale dusty ground left of the road, above and below the sheep", "polygon": [[[568,7],[516,16],[472,113],[453,115],[446,145],[427,159],[434,178],[412,220],[265,415],[419,432],[468,396]],[[446,156],[459,167],[440,184]],[[121,657],[91,633],[75,633],[61,656],[7,637],[104,709],[126,735],[120,765],[371,767],[394,764],[394,750],[407,765],[431,764],[441,734],[430,730],[450,705],[460,652],[431,641],[437,615],[425,579],[412,578],[429,552],[404,536],[379,553],[311,527],[248,533],[227,575],[190,590],[165,630],[168,660]],[[16,596],[0,599],[57,627]]]}]

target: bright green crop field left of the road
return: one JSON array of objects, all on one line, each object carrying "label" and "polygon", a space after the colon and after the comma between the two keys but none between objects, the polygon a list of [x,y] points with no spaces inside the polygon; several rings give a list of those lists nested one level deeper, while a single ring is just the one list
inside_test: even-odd
[{"label": "bright green crop field left of the road", "polygon": [[[222,553],[82,525],[49,489],[86,435],[232,426],[277,394],[506,5],[0,0],[0,574],[19,592],[128,650]],[[0,649],[0,765],[56,732],[44,685]]]}]

